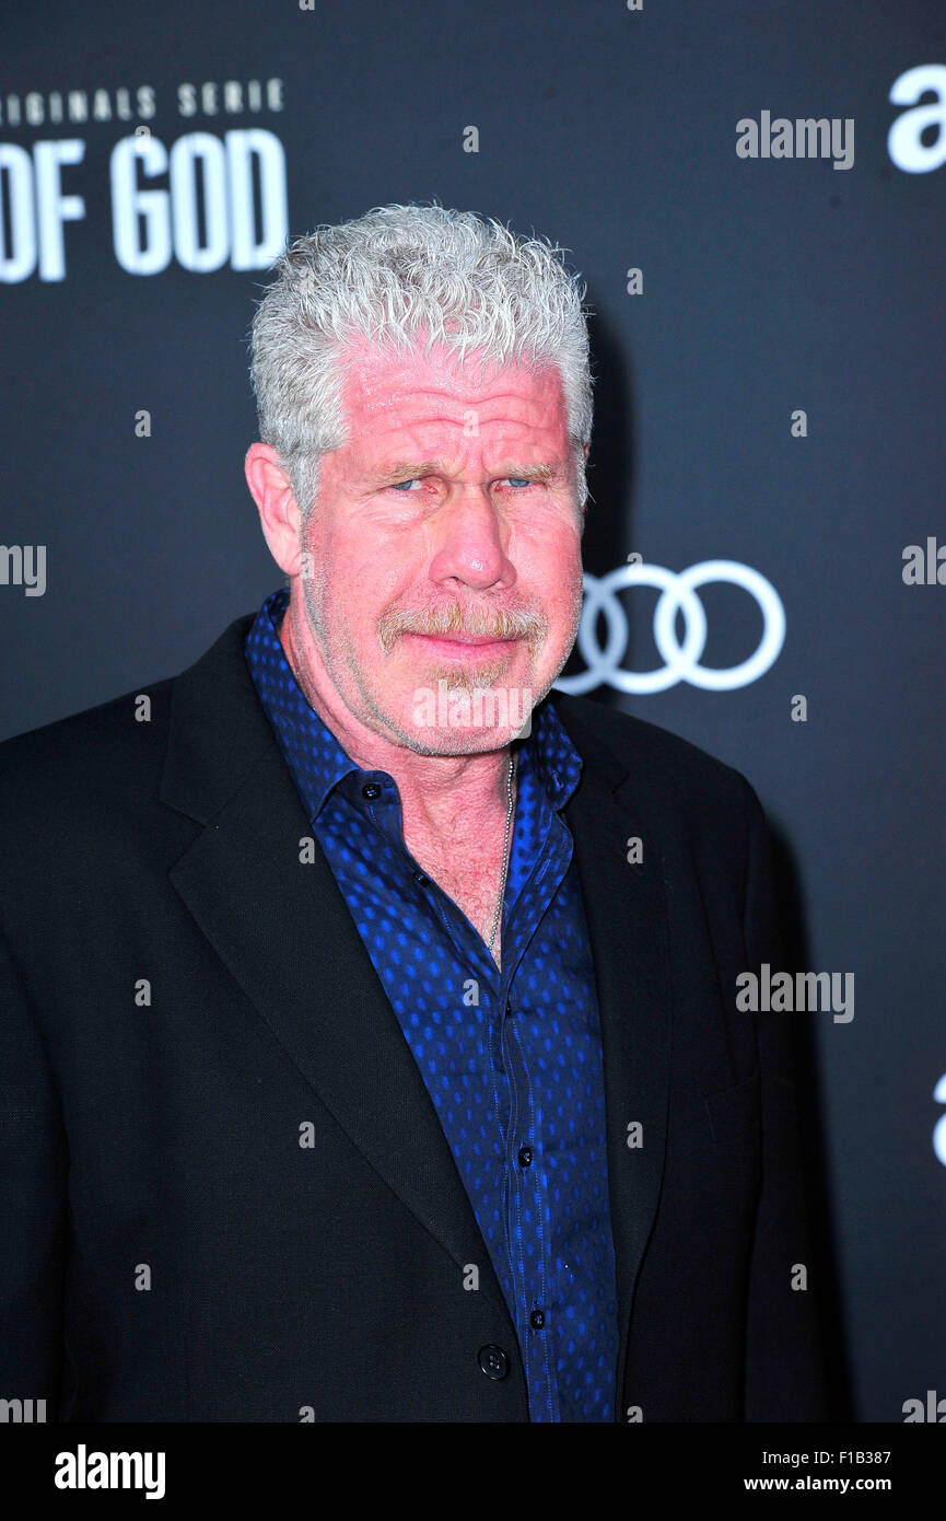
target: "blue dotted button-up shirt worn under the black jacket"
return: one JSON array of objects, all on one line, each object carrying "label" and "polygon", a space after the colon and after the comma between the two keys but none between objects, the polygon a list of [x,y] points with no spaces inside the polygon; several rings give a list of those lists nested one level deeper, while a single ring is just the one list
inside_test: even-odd
[{"label": "blue dotted button-up shirt worn under the black jacket", "polygon": [[249,671],[453,1151],[516,1326],[529,1419],[614,1421],[601,1031],[561,817],[581,757],[540,703],[519,741],[500,972],[409,855],[394,779],[362,771],[306,701],[278,637],[287,601],[281,589],[263,602]]}]

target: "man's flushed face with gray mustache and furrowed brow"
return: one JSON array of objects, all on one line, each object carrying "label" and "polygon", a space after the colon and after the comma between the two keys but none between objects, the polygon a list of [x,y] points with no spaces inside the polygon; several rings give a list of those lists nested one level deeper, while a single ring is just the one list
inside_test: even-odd
[{"label": "man's flushed face with gray mustache and furrowed brow", "polygon": [[476,354],[459,367],[440,348],[359,345],[344,405],[350,441],[322,456],[303,534],[304,616],[329,681],[362,724],[420,753],[505,745],[581,613],[558,371],[505,365],[481,383]]}]

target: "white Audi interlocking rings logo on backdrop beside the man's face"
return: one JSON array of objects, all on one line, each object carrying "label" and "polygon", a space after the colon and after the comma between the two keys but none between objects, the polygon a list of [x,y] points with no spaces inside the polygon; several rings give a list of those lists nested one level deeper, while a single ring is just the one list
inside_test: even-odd
[{"label": "white Audi interlocking rings logo on backdrop beside the man's face", "polygon": [[[706,649],[706,608],[697,596],[697,589],[709,581],[727,581],[730,586],[742,587],[762,611],[763,630],[757,649],[748,660],[729,669],[700,665]],[[654,586],[660,592],[654,608],[654,642],[665,663],[656,671],[621,669],[630,630],[627,613],[614,593],[630,586]],[[701,686],[707,692],[730,692],[765,675],[785,643],[785,608],[779,593],[763,575],[736,560],[701,560],[680,575],[665,570],[663,566],[617,566],[604,576],[586,575],[584,592],[578,648],[587,671],[560,677],[555,686],[561,692],[590,692],[605,681],[619,692],[666,692],[677,681],[689,681],[690,686]],[[607,624],[604,649],[595,636],[599,613]],[[683,613],[683,642],[677,639],[677,613]]]}]

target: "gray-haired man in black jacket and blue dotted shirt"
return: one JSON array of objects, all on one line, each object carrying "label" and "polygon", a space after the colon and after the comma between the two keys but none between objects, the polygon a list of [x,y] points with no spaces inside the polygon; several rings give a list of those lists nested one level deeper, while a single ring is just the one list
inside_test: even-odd
[{"label": "gray-haired man in black jacket and blue dotted shirt", "polygon": [[552,692],[575,278],[379,208],[286,251],[252,380],[287,590],[0,753],[0,1392],[64,1421],[820,1418],[788,1030],[735,1004],[777,957],[759,803]]}]

